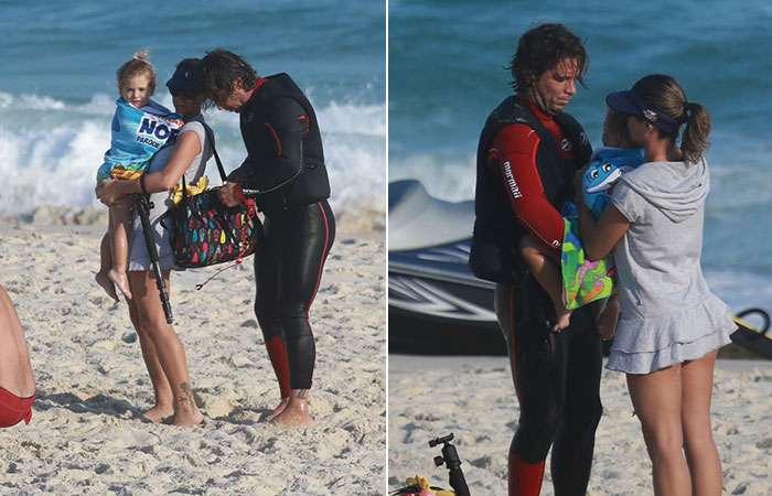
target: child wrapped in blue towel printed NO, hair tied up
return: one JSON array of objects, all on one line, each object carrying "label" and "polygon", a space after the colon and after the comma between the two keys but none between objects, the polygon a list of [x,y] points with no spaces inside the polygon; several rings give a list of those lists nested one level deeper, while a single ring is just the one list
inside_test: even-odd
[{"label": "child wrapped in blue towel printed NO, hair tied up", "polygon": [[[136,179],[142,175],[150,158],[176,137],[184,125],[182,118],[151,100],[156,90],[156,69],[142,50],[124,63],[116,74],[120,97],[112,117],[110,149],[97,171],[97,183],[106,179]],[[118,301],[117,285],[131,299],[126,265],[131,202],[120,202],[109,208],[108,231],[100,245],[100,267],[95,279],[107,294]]]}]

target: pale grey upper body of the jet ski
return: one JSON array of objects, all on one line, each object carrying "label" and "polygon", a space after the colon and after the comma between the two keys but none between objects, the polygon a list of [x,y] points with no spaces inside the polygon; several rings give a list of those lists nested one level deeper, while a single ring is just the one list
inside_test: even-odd
[{"label": "pale grey upper body of the jet ski", "polygon": [[448,202],[430,196],[419,181],[388,185],[388,249],[416,250],[470,239],[474,201]]}]

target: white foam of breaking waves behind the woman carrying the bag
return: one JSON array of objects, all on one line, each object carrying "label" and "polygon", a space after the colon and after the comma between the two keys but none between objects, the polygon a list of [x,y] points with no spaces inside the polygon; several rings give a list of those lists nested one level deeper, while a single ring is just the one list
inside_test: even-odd
[{"label": "white foam of breaking waves behind the woman carrying the bag", "polygon": [[[171,106],[163,95],[159,103]],[[45,95],[0,93],[0,216],[29,215],[44,205],[69,208],[101,205],[94,197],[96,169],[109,148],[115,97],[95,94],[67,103]],[[363,228],[385,225],[385,106],[331,103],[318,108],[325,159],[332,183],[331,204]],[[210,110],[226,171],[246,154],[238,116]],[[207,168],[216,179],[212,160]],[[215,182],[215,184],[218,181]]]}]

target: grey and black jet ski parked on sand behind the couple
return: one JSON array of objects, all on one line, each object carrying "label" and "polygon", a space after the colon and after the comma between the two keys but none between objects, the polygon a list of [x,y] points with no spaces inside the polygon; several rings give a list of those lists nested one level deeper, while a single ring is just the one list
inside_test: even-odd
[{"label": "grey and black jet ski parked on sand behind the couple", "polygon": [[[469,271],[473,226],[474,201],[436,198],[416,180],[389,183],[389,353],[506,355],[494,284]],[[732,342],[772,359],[769,314],[748,309],[733,319]]]}]

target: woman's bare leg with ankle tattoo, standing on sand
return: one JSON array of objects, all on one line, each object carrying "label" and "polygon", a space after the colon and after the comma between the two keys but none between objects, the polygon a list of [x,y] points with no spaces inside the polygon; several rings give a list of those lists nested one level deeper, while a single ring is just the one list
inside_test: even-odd
[{"label": "woman's bare leg with ankle tattoo, standing on sand", "polygon": [[[140,322],[156,346],[158,362],[172,390],[174,398],[172,423],[175,425],[201,423],[204,417],[199,411],[193,397],[185,349],[174,327],[167,323],[153,276],[151,272],[141,271],[130,272],[130,277]],[[163,279],[169,288],[169,270],[163,271]]]}]

